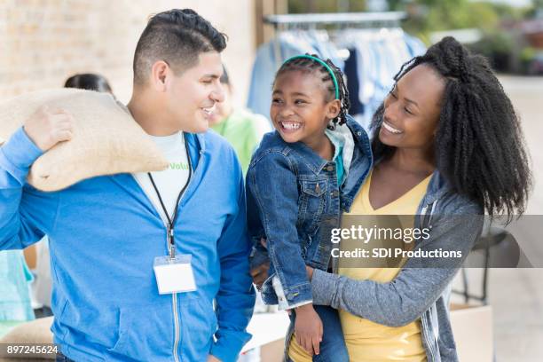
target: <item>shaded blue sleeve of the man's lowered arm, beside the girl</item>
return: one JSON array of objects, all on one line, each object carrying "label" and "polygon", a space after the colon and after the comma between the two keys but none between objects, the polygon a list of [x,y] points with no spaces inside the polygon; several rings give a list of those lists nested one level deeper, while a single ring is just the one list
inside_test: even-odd
[{"label": "shaded blue sleeve of the man's lowered arm, beside the girl", "polygon": [[209,351],[221,361],[236,361],[241,348],[251,338],[246,328],[255,307],[255,289],[249,275],[248,256],[251,249],[246,220],[245,188],[239,161],[238,212],[228,217],[217,242],[221,263],[221,286],[216,295],[218,330],[216,342]]}]

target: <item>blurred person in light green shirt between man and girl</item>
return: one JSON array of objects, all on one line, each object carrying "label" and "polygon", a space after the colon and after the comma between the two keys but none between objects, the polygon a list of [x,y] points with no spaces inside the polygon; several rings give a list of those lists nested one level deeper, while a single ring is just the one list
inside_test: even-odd
[{"label": "blurred person in light green shirt between man and girl", "polygon": [[263,115],[253,114],[242,108],[234,108],[232,84],[224,66],[220,81],[225,88],[224,101],[216,104],[216,112],[209,120],[209,126],[233,146],[245,175],[256,146],[264,133],[271,132],[271,124]]}]

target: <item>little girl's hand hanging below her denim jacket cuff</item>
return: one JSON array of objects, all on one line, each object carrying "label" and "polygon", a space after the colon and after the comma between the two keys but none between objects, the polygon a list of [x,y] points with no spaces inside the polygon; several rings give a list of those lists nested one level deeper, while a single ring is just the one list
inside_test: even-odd
[{"label": "little girl's hand hanging below her denim jacket cuff", "polygon": [[296,342],[311,356],[320,353],[319,345],[322,342],[322,321],[319,314],[313,309],[313,304],[305,304],[295,309],[295,337]]}]

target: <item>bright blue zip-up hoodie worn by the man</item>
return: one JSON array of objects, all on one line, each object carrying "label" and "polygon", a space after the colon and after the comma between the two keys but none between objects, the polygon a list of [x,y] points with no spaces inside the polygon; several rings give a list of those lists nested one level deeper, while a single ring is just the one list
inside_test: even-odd
[{"label": "bright blue zip-up hoodie worn by the man", "polygon": [[[0,249],[49,236],[54,341],[76,361],[235,361],[255,302],[240,163],[213,132],[188,134],[193,177],[179,204],[176,252],[197,290],[159,295],[167,231],[130,174],[59,192],[26,183],[42,154],[20,128],[0,147]],[[215,305],[214,305],[215,303]]]}]

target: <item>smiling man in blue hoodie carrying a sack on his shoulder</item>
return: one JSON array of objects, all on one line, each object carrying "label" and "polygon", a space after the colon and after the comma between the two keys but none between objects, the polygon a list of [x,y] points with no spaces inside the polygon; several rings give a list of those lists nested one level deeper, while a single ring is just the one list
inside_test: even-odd
[{"label": "smiling man in blue hoodie carrying a sack on his shoulder", "polygon": [[[0,148],[0,248],[51,248],[59,360],[235,361],[255,302],[240,163],[208,130],[224,35],[161,12],[134,56],[127,112],[169,159],[161,172],[93,177],[43,193],[31,164],[72,137],[43,109]],[[215,305],[214,305],[215,304]]]}]

